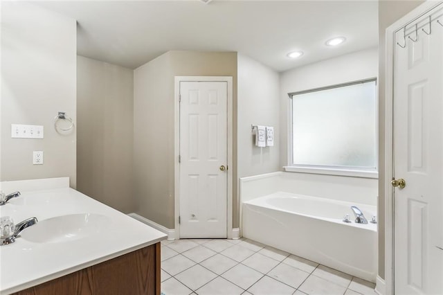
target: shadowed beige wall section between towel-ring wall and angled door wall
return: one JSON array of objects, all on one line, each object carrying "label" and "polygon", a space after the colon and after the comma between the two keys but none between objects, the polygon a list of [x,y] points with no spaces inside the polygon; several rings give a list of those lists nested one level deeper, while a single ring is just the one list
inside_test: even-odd
[{"label": "shadowed beige wall section between towel-ring wall and angled door wall", "polygon": [[77,189],[119,211],[135,210],[134,71],[78,56]]}]

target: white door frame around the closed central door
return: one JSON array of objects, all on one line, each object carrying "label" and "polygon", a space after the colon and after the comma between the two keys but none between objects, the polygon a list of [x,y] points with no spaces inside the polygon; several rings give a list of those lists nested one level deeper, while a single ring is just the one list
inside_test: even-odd
[{"label": "white door frame around the closed central door", "polygon": [[175,76],[174,93],[174,225],[175,240],[180,238],[180,82],[227,82],[228,84],[228,166],[227,170],[227,191],[226,191],[226,233],[227,238],[233,238],[233,78],[230,76]]}]

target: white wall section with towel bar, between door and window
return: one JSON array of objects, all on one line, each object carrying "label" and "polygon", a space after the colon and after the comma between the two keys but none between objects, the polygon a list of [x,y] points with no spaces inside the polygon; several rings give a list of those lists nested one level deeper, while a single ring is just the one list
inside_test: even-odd
[{"label": "white wall section with towel bar, between door and window", "polygon": [[[237,55],[238,178],[281,170],[278,73],[246,55]],[[273,147],[256,147],[251,125],[274,127]]]}]

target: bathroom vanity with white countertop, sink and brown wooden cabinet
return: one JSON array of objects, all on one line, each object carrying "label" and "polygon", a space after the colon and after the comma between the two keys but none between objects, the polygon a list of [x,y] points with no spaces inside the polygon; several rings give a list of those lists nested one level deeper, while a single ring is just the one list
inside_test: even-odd
[{"label": "bathroom vanity with white countertop, sink and brown wooden cabinet", "polygon": [[160,294],[164,233],[69,188],[68,178],[1,190],[21,196],[0,216],[39,222],[0,246],[0,294]]}]

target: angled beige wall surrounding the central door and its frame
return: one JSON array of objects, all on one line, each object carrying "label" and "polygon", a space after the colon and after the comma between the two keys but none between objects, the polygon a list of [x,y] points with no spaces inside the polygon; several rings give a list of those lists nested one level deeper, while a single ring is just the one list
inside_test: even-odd
[{"label": "angled beige wall surrounding the central door and its frame", "polygon": [[[174,76],[233,77],[237,105],[237,53],[170,51],[134,70],[134,195],[136,213],[174,229]],[[237,117],[234,107],[233,117]],[[234,120],[234,130],[237,121]],[[237,134],[234,132],[234,138]],[[237,149],[236,145],[233,150]],[[237,154],[234,152],[234,171]],[[237,175],[234,175],[236,179]],[[234,212],[237,208],[234,188]],[[238,226],[238,213],[234,217]]]}]

